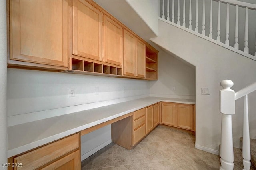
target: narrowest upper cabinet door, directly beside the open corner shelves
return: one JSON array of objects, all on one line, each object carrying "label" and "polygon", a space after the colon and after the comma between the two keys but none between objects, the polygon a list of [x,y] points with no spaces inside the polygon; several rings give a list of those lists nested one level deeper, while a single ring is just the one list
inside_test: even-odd
[{"label": "narrowest upper cabinet door, directly beside the open corner shelves", "polygon": [[136,65],[136,76],[145,78],[146,72],[146,45],[144,42],[136,39],[136,56],[137,56],[137,65]]}]

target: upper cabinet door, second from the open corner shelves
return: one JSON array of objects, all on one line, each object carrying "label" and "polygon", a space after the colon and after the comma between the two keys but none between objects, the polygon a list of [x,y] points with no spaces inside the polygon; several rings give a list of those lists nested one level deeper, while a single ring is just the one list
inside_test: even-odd
[{"label": "upper cabinet door, second from the open corner shelves", "polygon": [[124,30],[124,75],[135,76],[136,74],[136,37]]}]

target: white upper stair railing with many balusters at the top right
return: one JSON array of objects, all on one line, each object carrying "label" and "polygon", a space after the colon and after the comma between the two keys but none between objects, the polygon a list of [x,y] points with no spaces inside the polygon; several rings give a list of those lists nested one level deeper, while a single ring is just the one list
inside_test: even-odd
[{"label": "white upper stair railing with many balusters at the top right", "polygon": [[[170,1],[172,1],[172,3],[170,3]],[[180,1],[183,2],[182,5],[182,9],[180,9]],[[206,1],[208,6],[206,6]],[[210,1],[210,2],[209,2]],[[216,3],[218,2],[218,7],[217,8],[213,8],[212,3]],[[160,11],[162,11],[162,16],[161,20],[165,20],[168,23],[177,26],[178,28],[187,30],[188,32],[191,32],[192,34],[196,34],[202,38],[205,38],[206,40],[210,40],[218,45],[221,45],[225,48],[228,48],[230,50],[233,50],[234,52],[237,52],[239,54],[242,54],[248,58],[251,58],[253,60],[256,60],[256,36],[252,37],[249,35],[249,30],[250,32],[254,32],[256,30],[256,26],[251,26],[253,28],[249,28],[249,22],[250,23],[254,23],[255,22],[255,18],[256,16],[252,16],[251,18],[253,18],[252,20],[248,20],[248,10],[254,10],[256,11],[256,4],[251,4],[251,3],[246,3],[246,2],[241,2],[241,1],[237,1],[237,0],[201,0],[200,1],[200,5],[202,5],[202,8],[198,8],[198,0],[160,0],[160,3],[162,3],[162,6],[160,6]],[[171,8],[170,8],[171,6]],[[186,8],[186,6],[188,6]],[[216,6],[216,5],[215,5]],[[223,14],[223,12],[221,12],[222,8],[221,6],[224,6],[224,8],[226,8],[226,15],[224,16],[220,16],[221,13]],[[232,15],[232,13],[230,13],[231,7],[230,6],[234,6],[235,8],[232,8],[235,10],[235,15]],[[192,8],[193,7],[193,8]],[[238,13],[238,8],[239,10],[244,10],[243,12]],[[244,8],[244,9],[240,9],[240,8]],[[166,10],[167,9],[167,12]],[[172,17],[170,18],[169,14],[170,14],[170,10],[172,9]],[[202,9],[202,11],[198,11],[198,9]],[[182,21],[180,21],[180,10],[182,10]],[[186,11],[187,10],[187,11]],[[177,12],[176,12],[177,11]],[[208,11],[210,12],[210,16],[209,18],[206,18],[206,11],[208,13]],[[216,18],[217,22],[213,23],[213,15],[212,13],[217,13],[218,16]],[[200,14],[200,17],[202,17],[202,32],[198,32],[198,13]],[[244,15],[245,13],[245,15]],[[193,15],[192,15],[193,14]],[[242,15],[239,17],[239,14]],[[256,14],[256,12],[250,12],[250,14]],[[177,15],[177,17],[175,16]],[[194,16],[195,15],[195,16]],[[166,17],[167,16],[167,17]],[[186,19],[186,16],[189,17]],[[238,24],[238,18],[244,17],[244,21],[242,22],[244,23],[244,25],[239,26]],[[177,18],[177,19],[176,19]],[[175,22],[176,19],[176,22]],[[200,19],[200,18],[199,18]],[[206,26],[206,20],[208,21],[209,25]],[[221,21],[222,20],[222,21]],[[221,28],[223,29],[223,27],[220,25],[221,23],[223,23],[223,20],[225,20],[226,22],[226,30],[221,30]],[[230,21],[235,21],[235,23],[232,23]],[[182,22],[182,24],[181,24]],[[216,25],[213,25],[216,24]],[[194,27],[193,27],[194,26]],[[207,30],[206,30],[207,27]],[[214,32],[212,32],[213,27],[216,28],[216,30]],[[230,31],[230,28],[234,28],[234,32]],[[243,30],[244,29],[244,30]],[[240,44],[239,43],[239,37],[238,37],[238,32],[240,30],[240,34],[244,34],[244,44],[242,45],[242,41],[240,40]],[[206,31],[209,32],[208,35],[206,35]],[[242,32],[244,31],[244,33]],[[225,34],[221,34],[221,32],[225,32]],[[230,34],[232,33],[232,35]],[[233,35],[234,33],[234,35]],[[213,39],[213,35],[216,37],[216,39]],[[225,35],[225,38],[224,36]],[[221,39],[221,36],[223,36],[223,38]],[[230,37],[232,38],[232,41],[230,41]],[[252,38],[250,40],[251,45],[249,46],[249,38]],[[222,41],[222,42],[221,42]],[[254,43],[255,41],[255,43]],[[252,43],[253,42],[253,43]],[[240,48],[239,48],[240,46]],[[249,47],[250,47],[250,51],[249,51]],[[253,48],[252,48],[253,47]],[[254,49],[255,48],[255,49]]]}]

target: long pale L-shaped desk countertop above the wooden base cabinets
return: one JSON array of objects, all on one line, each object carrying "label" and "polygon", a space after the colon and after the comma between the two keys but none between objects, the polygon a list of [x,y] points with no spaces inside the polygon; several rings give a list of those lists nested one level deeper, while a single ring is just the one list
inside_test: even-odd
[{"label": "long pale L-shaped desk countertop above the wooden base cabinets", "polygon": [[195,100],[146,97],[8,127],[8,158],[157,102],[195,104]]}]

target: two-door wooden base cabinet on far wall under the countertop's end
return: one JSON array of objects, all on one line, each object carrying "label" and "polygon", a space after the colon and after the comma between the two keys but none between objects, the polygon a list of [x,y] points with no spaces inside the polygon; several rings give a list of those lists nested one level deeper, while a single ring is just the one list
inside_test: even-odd
[{"label": "two-door wooden base cabinet on far wall under the countertop's end", "polygon": [[195,105],[162,102],[161,123],[195,131]]}]

